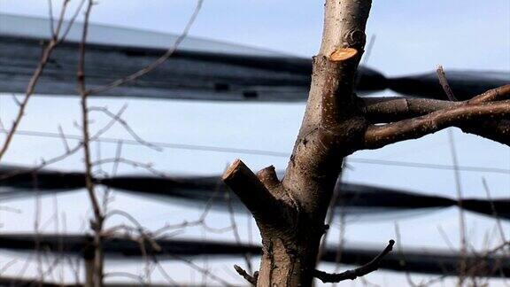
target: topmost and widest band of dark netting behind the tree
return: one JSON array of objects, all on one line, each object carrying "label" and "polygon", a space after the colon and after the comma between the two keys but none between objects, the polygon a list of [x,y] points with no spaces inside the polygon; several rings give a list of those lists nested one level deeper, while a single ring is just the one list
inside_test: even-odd
[{"label": "topmost and widest band of dark netting behind the tree", "polygon": [[[24,93],[48,39],[47,19],[0,15],[0,92]],[[81,24],[54,50],[35,92],[76,94],[75,74]],[[176,35],[91,25],[86,57],[89,89],[134,73],[174,46]],[[310,87],[311,58],[188,37],[172,57],[136,81],[92,96],[205,101],[299,102]],[[446,71],[455,96],[473,97],[510,82],[494,71]],[[361,66],[357,91],[367,95],[393,89],[407,96],[447,99],[434,73],[386,78]]]}]

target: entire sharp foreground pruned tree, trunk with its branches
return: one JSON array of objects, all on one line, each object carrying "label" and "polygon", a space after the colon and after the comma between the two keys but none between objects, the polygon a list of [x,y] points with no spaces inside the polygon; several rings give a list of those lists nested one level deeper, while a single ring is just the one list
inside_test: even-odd
[{"label": "entire sharp foreground pruned tree, trunk with its branches", "polygon": [[510,144],[510,85],[464,102],[357,97],[356,71],[366,42],[371,0],[326,0],[321,50],[298,139],[282,181],[274,167],[254,175],[236,160],[223,175],[257,221],[263,257],[257,274],[236,268],[258,286],[311,286],[366,275],[393,241],[366,266],[341,274],[315,270],[336,179],[346,156],[419,138],[443,128]]}]

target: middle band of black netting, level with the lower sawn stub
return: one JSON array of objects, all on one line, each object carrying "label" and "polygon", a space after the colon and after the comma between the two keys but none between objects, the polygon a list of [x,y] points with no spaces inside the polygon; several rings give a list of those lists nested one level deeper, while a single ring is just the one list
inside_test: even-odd
[{"label": "middle band of black netting, level with the lower sawn stub", "polygon": [[[195,203],[204,206],[211,200],[213,207],[225,212],[228,204],[245,211],[243,204],[230,192],[220,176],[127,175],[95,179],[116,190],[135,193],[147,198],[166,198],[174,203]],[[26,198],[36,194],[61,193],[85,188],[85,175],[52,170],[33,171],[30,168],[0,166],[0,199]],[[476,199],[425,195],[407,190],[389,189],[366,184],[338,183],[336,211],[349,213],[383,213],[415,209],[437,209],[462,206],[465,210],[510,220],[510,198]]]}]

